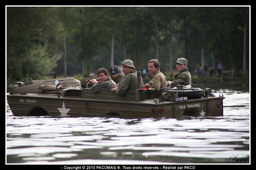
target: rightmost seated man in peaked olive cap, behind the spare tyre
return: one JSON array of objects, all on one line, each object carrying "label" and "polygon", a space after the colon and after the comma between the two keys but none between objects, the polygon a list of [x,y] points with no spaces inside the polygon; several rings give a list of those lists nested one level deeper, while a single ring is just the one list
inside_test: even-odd
[{"label": "rightmost seated man in peaked olive cap, behind the spare tyre", "polygon": [[178,74],[175,75],[174,80],[168,81],[168,86],[170,88],[174,88],[177,85],[188,85],[191,84],[191,74],[188,71],[187,65],[188,61],[184,58],[179,58],[176,61],[176,68],[178,70]]}]

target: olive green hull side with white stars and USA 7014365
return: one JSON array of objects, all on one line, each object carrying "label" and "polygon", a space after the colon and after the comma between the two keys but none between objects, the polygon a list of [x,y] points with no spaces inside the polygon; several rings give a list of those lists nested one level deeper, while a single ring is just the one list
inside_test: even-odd
[{"label": "olive green hull side with white stars and USA 7014365", "polygon": [[130,117],[223,115],[224,97],[199,98],[183,102],[159,102],[154,99],[134,101],[111,94],[110,91],[107,94],[111,97],[104,96],[100,92],[90,93],[88,89],[79,91],[84,91],[81,97],[65,97],[63,94],[58,97],[56,93],[7,94],[7,100],[14,115],[121,115]]}]

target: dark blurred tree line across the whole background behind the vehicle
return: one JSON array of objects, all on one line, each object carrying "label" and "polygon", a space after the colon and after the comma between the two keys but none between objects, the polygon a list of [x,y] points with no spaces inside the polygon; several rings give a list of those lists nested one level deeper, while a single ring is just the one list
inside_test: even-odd
[{"label": "dark blurred tree line across the whole background behind the vehicle", "polygon": [[219,62],[236,76],[249,72],[249,6],[6,7],[7,84],[42,76],[89,77],[124,59],[176,73]]}]

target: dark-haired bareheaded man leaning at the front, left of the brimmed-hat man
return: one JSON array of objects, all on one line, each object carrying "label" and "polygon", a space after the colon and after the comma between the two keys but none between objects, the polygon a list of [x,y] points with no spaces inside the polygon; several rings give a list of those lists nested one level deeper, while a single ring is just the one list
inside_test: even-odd
[{"label": "dark-haired bareheaded man leaning at the front, left of the brimmed-hat man", "polygon": [[108,76],[108,70],[100,68],[97,71],[99,82],[96,79],[90,80],[93,83],[91,87],[92,92],[98,92],[100,90],[111,90],[112,86],[117,86],[116,83]]}]

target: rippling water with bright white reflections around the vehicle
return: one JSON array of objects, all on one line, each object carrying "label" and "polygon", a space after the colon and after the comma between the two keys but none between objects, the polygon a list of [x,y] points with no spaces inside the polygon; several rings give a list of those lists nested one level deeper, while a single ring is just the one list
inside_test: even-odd
[{"label": "rippling water with bright white reflections around the vehicle", "polygon": [[231,156],[248,163],[250,94],[226,89],[214,94],[226,97],[224,116],[18,117],[7,106],[7,163],[236,163]]}]

